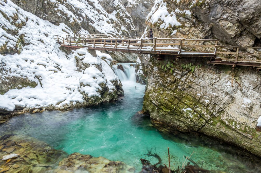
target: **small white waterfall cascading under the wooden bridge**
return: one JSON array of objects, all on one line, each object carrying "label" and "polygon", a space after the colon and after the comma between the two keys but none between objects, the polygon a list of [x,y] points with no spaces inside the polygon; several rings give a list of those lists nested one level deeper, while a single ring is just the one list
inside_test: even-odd
[{"label": "small white waterfall cascading under the wooden bridge", "polygon": [[119,77],[120,81],[133,81],[136,82],[136,71],[135,66],[131,66],[131,63],[121,63],[124,72],[117,69],[117,65],[113,65],[115,74]]}]

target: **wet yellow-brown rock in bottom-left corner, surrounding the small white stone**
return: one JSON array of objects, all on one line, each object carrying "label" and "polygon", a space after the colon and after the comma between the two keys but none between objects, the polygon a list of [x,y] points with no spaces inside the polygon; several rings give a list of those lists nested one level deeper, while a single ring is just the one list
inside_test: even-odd
[{"label": "wet yellow-brown rock in bottom-left corner, surrounding the small white stone", "polygon": [[0,156],[19,154],[17,158],[0,161],[0,172],[44,172],[50,170],[55,162],[67,154],[55,150],[44,142],[33,138],[21,138],[14,134],[0,138]]}]

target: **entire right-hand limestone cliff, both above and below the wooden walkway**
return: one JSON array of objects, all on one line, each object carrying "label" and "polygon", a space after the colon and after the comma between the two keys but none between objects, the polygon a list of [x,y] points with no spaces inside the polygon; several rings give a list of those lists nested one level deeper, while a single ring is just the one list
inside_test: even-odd
[{"label": "entire right-hand limestone cliff, both above and below the wooden walkway", "polygon": [[[210,38],[220,39],[219,44],[258,46],[260,7],[257,1],[158,0],[147,24],[158,38]],[[256,132],[260,72],[251,67],[207,65],[206,60],[151,57],[145,65],[143,110],[157,123],[213,136],[261,156],[261,134]]]}]

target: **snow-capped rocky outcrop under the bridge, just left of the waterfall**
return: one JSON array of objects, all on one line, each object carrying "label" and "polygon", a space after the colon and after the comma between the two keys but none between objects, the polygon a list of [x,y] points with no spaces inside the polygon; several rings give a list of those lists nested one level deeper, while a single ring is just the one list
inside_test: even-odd
[{"label": "snow-capped rocky outcrop under the bridge, just left of the waterfall", "polygon": [[[75,52],[76,66],[78,70],[84,73],[80,79],[78,90],[83,95],[86,104],[97,105],[118,100],[118,97],[124,95],[124,91],[121,82],[118,78],[115,78],[112,69],[108,69],[112,66],[112,59],[100,56],[90,64],[86,60],[90,57],[88,51],[88,49],[82,49]],[[93,87],[95,90],[93,90]]]}]

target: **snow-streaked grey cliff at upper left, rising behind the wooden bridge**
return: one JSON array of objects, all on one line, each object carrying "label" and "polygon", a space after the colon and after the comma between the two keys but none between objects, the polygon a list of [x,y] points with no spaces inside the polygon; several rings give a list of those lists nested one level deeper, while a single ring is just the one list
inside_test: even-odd
[{"label": "snow-streaked grey cliff at upper left, rising behind the wooden bridge", "polygon": [[120,0],[113,3],[100,0],[40,0],[37,3],[35,0],[12,0],[12,2],[55,25],[65,23],[75,33],[135,35],[132,18]]}]

